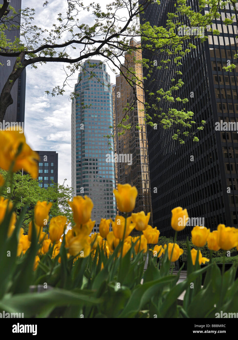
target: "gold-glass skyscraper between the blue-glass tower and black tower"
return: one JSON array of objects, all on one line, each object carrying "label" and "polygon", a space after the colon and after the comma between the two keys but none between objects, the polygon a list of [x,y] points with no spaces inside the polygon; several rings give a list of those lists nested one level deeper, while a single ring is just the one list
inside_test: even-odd
[{"label": "gold-glass skyscraper between the blue-glass tower and black tower", "polygon": [[[132,39],[131,46],[141,46],[140,42]],[[136,77],[142,81],[142,64],[135,63],[141,60],[141,50],[134,50],[131,54],[125,55],[125,62],[121,66],[121,71],[125,74],[128,69],[136,72]],[[150,197],[150,177],[148,163],[148,145],[146,124],[144,121],[144,93],[139,85],[134,88],[126,81],[123,74],[116,75],[116,84],[113,86],[113,114],[114,128],[122,121],[126,112],[125,107],[133,106],[133,110],[129,110],[130,117],[127,124],[131,124],[131,129],[125,134],[118,136],[120,129],[116,129],[115,135],[115,153],[123,155],[121,160],[126,162],[116,163],[116,181],[120,184],[129,183],[138,189],[138,197],[133,212],[145,211],[147,214],[151,212],[149,223],[152,223],[151,197]],[[136,128],[140,126],[140,130]],[[129,159],[128,159],[129,155]],[[120,159],[120,158],[119,158]]]}]

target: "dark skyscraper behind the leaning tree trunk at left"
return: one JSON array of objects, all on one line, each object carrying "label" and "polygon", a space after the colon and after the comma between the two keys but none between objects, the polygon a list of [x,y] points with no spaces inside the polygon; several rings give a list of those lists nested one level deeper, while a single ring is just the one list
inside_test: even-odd
[{"label": "dark skyscraper behind the leaning tree trunk at left", "polygon": [[[0,0],[0,4],[3,4],[3,0]],[[11,0],[10,6],[15,8],[16,12],[21,8],[21,0]],[[9,15],[12,15],[10,11]],[[15,15],[15,24],[20,23],[20,15]],[[11,28],[6,32],[6,38],[10,41],[14,41],[16,38],[20,38],[20,29]],[[0,56],[0,93],[5,85],[10,73],[13,70],[16,57],[3,57]],[[20,77],[15,81],[11,90],[11,96],[13,98],[13,104],[8,106],[4,120],[7,122],[24,122],[25,119],[25,82],[26,82],[26,70],[24,69]]]}]

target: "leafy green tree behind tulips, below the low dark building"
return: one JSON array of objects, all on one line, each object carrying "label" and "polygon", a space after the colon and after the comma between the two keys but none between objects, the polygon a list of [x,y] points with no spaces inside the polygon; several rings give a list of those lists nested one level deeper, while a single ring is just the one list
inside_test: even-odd
[{"label": "leafy green tree behind tulips, below the low dark building", "polygon": [[[7,172],[0,169],[0,173],[6,178]],[[66,180],[65,180],[66,181]],[[52,202],[50,210],[50,218],[58,215],[66,216],[69,221],[73,221],[72,210],[68,205],[68,201],[72,199],[73,189],[65,184],[53,183],[53,186],[48,188],[40,188],[37,180],[32,179],[28,174],[17,172],[13,174],[13,184],[10,186],[8,180],[5,189],[2,192],[4,198],[11,199],[15,204],[17,216],[21,209],[27,204],[28,210],[24,216],[23,228],[28,231],[29,222],[32,219],[33,211],[38,201]]]}]

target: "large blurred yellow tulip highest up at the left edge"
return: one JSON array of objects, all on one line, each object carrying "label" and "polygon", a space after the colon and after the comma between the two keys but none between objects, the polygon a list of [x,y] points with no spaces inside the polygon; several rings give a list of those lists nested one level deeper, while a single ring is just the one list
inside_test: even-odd
[{"label": "large blurred yellow tulip highest up at the left edge", "polygon": [[[21,152],[17,155],[18,147],[22,144]],[[13,161],[13,171],[23,170],[33,178],[38,176],[39,155],[25,142],[25,136],[19,131],[0,131],[0,168],[9,170]]]}]

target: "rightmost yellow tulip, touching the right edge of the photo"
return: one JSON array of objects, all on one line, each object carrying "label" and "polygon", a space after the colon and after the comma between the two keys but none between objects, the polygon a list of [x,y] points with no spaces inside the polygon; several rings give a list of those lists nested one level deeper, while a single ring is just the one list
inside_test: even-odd
[{"label": "rightmost yellow tulip, touching the right edge of the photo", "polygon": [[224,224],[217,226],[217,244],[223,250],[229,250],[238,245],[238,229],[225,227]]}]

